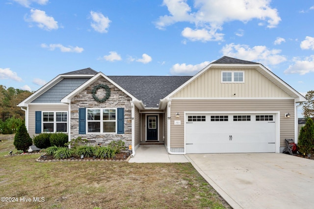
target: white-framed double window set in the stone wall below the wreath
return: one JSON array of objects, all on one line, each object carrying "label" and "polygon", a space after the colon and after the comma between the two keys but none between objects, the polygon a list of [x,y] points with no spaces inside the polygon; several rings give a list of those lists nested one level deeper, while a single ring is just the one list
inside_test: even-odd
[{"label": "white-framed double window set in the stone wall below the wreath", "polygon": [[116,133],[115,109],[87,109],[89,133]]}]

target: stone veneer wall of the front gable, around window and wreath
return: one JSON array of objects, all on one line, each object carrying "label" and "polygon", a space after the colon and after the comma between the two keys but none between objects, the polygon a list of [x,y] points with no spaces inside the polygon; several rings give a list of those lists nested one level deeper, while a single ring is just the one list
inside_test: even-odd
[{"label": "stone veneer wall of the front gable, around window and wreath", "polygon": [[[110,97],[103,103],[94,100],[92,90],[94,86],[103,84],[110,88]],[[105,97],[105,90],[97,91],[98,98]],[[132,142],[131,130],[131,97],[123,93],[116,86],[108,82],[104,77],[99,78],[71,100],[71,139],[81,137],[88,139],[90,144],[108,144],[112,140],[123,140],[125,146]],[[86,133],[78,134],[78,108],[124,108],[124,134]]]}]

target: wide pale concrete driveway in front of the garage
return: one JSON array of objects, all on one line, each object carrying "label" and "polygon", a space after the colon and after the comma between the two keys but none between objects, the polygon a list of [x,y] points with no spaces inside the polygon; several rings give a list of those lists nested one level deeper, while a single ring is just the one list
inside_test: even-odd
[{"label": "wide pale concrete driveway in front of the garage", "polygon": [[314,161],[279,153],[185,157],[234,209],[314,208]]}]

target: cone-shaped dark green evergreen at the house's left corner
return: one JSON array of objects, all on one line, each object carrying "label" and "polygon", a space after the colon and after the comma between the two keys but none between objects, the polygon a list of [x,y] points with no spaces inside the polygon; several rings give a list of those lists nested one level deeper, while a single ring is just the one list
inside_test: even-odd
[{"label": "cone-shaped dark green evergreen at the house's left corner", "polygon": [[32,145],[32,139],[29,137],[29,134],[26,130],[26,126],[24,124],[21,124],[18,127],[18,130],[16,131],[15,137],[14,137],[14,146],[17,150],[23,150],[26,152],[28,150],[28,147]]}]

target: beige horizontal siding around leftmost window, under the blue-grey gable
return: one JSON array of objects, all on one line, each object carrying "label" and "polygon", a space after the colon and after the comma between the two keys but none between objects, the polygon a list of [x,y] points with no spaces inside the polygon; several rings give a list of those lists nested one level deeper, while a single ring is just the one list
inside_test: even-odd
[{"label": "beige horizontal siding around leftmost window, under the blue-grey gable", "polygon": [[[35,135],[35,112],[36,111],[69,111],[69,106],[66,104],[47,104],[47,105],[28,105],[28,133],[30,137]],[[69,116],[69,114],[68,114]]]}]

